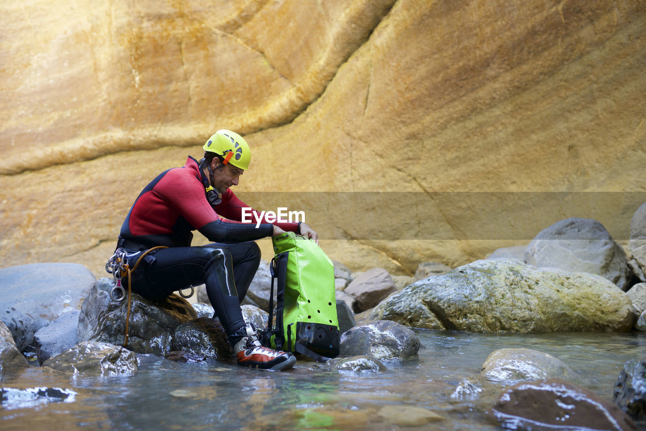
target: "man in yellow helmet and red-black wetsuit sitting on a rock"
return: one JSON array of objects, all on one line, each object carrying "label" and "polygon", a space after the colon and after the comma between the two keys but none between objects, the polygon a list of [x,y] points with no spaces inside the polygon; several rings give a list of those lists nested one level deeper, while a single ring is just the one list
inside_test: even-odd
[{"label": "man in yellow helmet and red-black wetsuit sitting on a rock", "polygon": [[[260,264],[260,248],[253,241],[293,231],[318,243],[318,235],[305,223],[270,224],[263,218],[256,227],[255,223],[240,222],[242,209],[248,206],[230,187],[238,185],[249,167],[249,145],[239,134],[220,130],[203,149],[204,158],[199,162],[189,156],[183,167],[169,169],[152,180],[125,218],[118,248],[144,251],[168,247],[145,256],[146,263],[132,273],[132,290],[154,300],[203,283],[238,365],[262,370],[289,368],[296,362],[294,355],[262,347],[240,310]],[[213,244],[191,247],[191,231],[195,229]]]}]

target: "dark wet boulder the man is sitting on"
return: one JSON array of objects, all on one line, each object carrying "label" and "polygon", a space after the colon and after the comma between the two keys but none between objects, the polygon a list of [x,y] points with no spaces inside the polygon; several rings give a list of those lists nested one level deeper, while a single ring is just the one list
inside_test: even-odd
[{"label": "dark wet boulder the man is sitting on", "polygon": [[[102,278],[90,289],[79,315],[78,342],[123,344],[128,301],[111,300],[112,286],[112,279]],[[178,295],[153,302],[132,293],[127,347],[136,353],[163,356],[173,350],[175,328],[193,319],[197,313]]]}]

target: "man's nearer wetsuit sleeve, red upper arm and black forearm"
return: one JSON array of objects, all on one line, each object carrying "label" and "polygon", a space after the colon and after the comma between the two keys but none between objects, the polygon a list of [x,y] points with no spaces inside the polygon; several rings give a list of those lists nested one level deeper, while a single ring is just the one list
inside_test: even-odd
[{"label": "man's nearer wetsuit sleeve, red upper arm and black forearm", "polygon": [[246,242],[269,237],[273,233],[271,224],[260,224],[256,228],[255,224],[222,220],[207,201],[202,184],[191,176],[167,175],[154,191],[209,241]]}]

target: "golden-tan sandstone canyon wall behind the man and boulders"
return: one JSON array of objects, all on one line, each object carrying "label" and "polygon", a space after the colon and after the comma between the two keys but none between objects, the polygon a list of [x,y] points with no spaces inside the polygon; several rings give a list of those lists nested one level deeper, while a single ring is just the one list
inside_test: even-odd
[{"label": "golden-tan sandstone canyon wall behind the man and boulders", "polygon": [[646,202],[643,0],[5,9],[2,267],[103,276],[141,188],[220,128],[253,149],[236,193],[306,211],[352,269],[464,264],[568,216],[625,240]]}]

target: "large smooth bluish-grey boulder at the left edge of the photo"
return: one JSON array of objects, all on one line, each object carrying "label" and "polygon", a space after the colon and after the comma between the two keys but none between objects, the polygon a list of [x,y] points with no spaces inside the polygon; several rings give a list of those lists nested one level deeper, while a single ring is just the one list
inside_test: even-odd
[{"label": "large smooth bluish-grey boulder at the left edge of the photo", "polygon": [[90,270],[79,264],[12,266],[0,269],[0,295],[6,310],[15,308],[33,319],[33,335],[66,311],[79,310],[95,280]]}]

